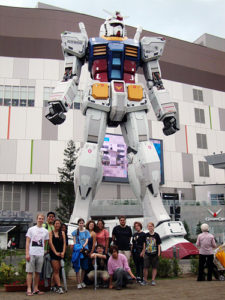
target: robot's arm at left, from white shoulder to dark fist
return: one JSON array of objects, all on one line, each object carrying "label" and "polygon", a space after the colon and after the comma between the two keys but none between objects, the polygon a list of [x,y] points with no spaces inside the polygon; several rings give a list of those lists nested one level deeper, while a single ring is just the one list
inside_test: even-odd
[{"label": "robot's arm at left, from white shoulder to dark fist", "polygon": [[73,104],[78,92],[81,67],[85,61],[88,36],[83,23],[79,23],[81,32],[65,31],[61,34],[62,51],[65,59],[63,80],[58,82],[49,101],[46,118],[54,125],[65,121],[65,113]]}]

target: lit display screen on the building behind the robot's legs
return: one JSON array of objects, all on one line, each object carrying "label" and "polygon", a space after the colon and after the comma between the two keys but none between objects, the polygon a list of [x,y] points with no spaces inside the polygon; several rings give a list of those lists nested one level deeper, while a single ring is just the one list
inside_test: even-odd
[{"label": "lit display screen on the building behind the robot's legs", "polygon": [[[160,159],[160,184],[164,184],[163,141],[150,140],[153,142]],[[103,152],[103,181],[128,183],[127,146],[123,136],[106,134],[101,151]]]}]

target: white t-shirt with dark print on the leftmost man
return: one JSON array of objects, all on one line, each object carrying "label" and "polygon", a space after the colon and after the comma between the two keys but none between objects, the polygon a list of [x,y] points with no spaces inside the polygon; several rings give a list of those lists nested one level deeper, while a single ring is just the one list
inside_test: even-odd
[{"label": "white t-shirt with dark print on the leftmost man", "polygon": [[30,238],[30,255],[44,255],[45,240],[49,240],[48,230],[37,225],[30,227],[26,234]]}]

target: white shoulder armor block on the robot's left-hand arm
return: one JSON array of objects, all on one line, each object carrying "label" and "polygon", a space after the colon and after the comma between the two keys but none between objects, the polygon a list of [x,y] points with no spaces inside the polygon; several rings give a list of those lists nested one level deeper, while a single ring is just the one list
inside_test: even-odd
[{"label": "white shoulder armor block on the robot's left-hand arm", "polygon": [[63,52],[70,53],[79,58],[85,56],[87,37],[80,32],[65,31],[61,34]]}]

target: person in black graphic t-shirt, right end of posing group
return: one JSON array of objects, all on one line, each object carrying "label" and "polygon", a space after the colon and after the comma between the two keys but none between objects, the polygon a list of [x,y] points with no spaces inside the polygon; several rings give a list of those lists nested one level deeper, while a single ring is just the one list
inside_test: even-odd
[{"label": "person in black graphic t-shirt, right end of posing group", "polygon": [[157,267],[159,256],[161,254],[161,239],[158,233],[154,232],[154,224],[148,223],[149,232],[145,235],[145,256],[144,256],[144,281],[147,282],[148,269],[152,266],[152,285],[156,285],[155,277],[157,274]]}]

